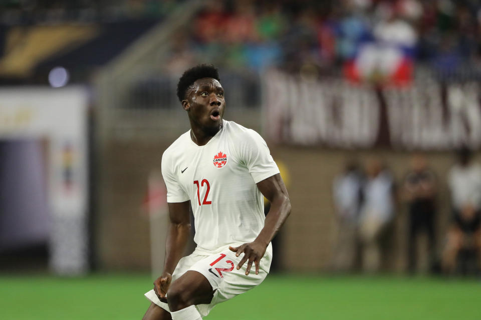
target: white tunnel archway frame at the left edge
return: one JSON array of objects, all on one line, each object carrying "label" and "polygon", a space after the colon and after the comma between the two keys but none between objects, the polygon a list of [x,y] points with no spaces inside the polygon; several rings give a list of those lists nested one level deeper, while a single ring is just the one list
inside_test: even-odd
[{"label": "white tunnel archway frame at the left edge", "polygon": [[58,273],[88,266],[87,107],[82,87],[0,89],[0,138],[47,141],[50,261]]}]

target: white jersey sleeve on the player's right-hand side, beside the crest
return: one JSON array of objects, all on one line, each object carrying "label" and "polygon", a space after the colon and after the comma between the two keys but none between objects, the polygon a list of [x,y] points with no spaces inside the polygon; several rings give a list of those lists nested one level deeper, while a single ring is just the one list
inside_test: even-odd
[{"label": "white jersey sleeve on the player's right-hand side, beside the crest", "polygon": [[279,173],[279,168],[271,156],[269,147],[262,136],[249,130],[241,142],[241,158],[249,169],[255,183]]}]

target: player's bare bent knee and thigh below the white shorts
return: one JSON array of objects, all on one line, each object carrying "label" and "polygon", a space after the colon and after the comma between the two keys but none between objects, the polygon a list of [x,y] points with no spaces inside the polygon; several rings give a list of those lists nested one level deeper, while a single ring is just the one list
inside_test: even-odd
[{"label": "player's bare bent knee and thigh below the white shorts", "polygon": [[[200,272],[188,270],[170,284],[167,300],[171,310],[188,305],[208,304],[213,289],[207,278]],[[175,307],[174,307],[175,306]]]}]

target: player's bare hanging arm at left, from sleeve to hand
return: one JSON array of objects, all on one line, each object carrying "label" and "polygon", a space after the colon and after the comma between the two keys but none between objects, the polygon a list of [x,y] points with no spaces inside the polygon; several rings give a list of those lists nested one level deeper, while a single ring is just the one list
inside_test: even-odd
[{"label": "player's bare hanging arm at left, from sleeve to hand", "polygon": [[172,202],[169,205],[170,225],[165,244],[164,271],[154,281],[154,291],[162,302],[167,302],[165,294],[172,281],[172,272],[184,255],[185,245],[190,234],[189,201]]}]

